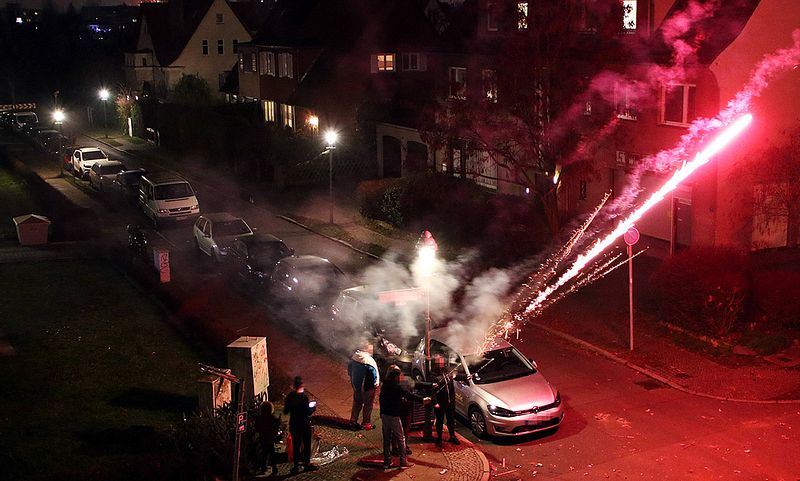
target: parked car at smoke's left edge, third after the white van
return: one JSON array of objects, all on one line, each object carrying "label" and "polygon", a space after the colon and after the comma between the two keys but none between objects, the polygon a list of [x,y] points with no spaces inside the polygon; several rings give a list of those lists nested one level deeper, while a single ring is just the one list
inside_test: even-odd
[{"label": "parked car at smoke's left edge, third after the white van", "polygon": [[347,276],[328,259],[290,256],[275,266],[269,291],[277,304],[317,311],[330,306],[346,283]]}]

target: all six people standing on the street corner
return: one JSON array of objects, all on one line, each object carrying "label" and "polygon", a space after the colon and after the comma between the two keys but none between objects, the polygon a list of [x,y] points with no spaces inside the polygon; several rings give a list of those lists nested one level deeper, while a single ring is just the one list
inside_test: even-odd
[{"label": "all six people standing on the street corner", "polygon": [[[372,408],[375,393],[380,388],[379,406],[383,427],[383,468],[392,467],[392,457],[400,459],[400,468],[413,466],[408,460],[412,454],[408,444],[408,433],[411,427],[411,415],[415,402],[421,402],[425,408],[423,439],[435,441],[442,445],[442,434],[445,421],[449,441],[460,444],[455,434],[455,386],[452,373],[447,372],[444,358],[435,356],[431,365],[431,381],[414,381],[407,379],[401,369],[391,365],[386,370],[383,380],[380,378],[378,364],[372,357],[372,345],[366,344],[357,349],[350,359],[347,372],[353,387],[353,406],[350,411],[350,425],[354,429],[373,429]],[[312,401],[305,392],[303,378],[294,378],[293,390],[286,395],[283,413],[289,415],[289,433],[292,437],[292,456],[294,467],[291,473],[316,471],[317,466],[311,464],[311,415],[316,409],[316,401]],[[432,418],[436,420],[436,439],[432,437]],[[359,418],[361,422],[359,423]],[[255,429],[259,435],[262,448],[261,471],[266,472],[271,466],[271,475],[278,472],[275,455],[275,442],[282,436],[281,422],[275,417],[274,407],[269,401],[261,404],[255,420]]]}]

